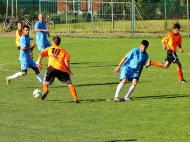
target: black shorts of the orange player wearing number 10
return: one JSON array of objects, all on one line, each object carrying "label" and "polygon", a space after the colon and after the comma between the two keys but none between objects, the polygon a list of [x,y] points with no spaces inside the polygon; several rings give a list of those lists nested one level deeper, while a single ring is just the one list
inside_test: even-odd
[{"label": "black shorts of the orange player wearing number 10", "polygon": [[44,82],[51,85],[55,77],[57,77],[63,83],[71,84],[71,79],[67,72],[62,72],[52,68],[51,66],[48,67],[44,77]]}]

